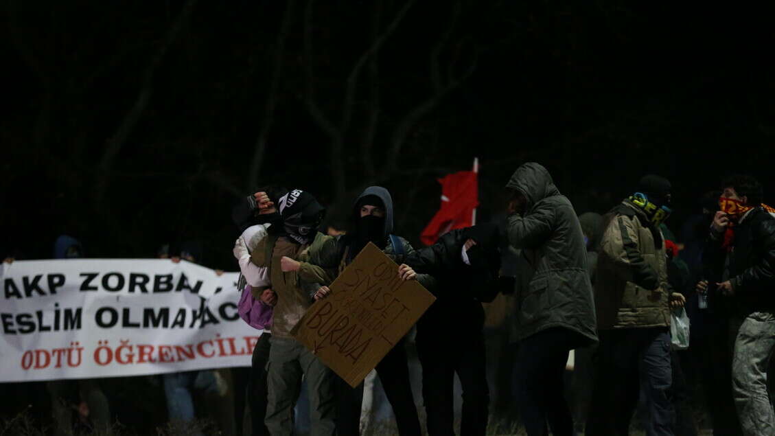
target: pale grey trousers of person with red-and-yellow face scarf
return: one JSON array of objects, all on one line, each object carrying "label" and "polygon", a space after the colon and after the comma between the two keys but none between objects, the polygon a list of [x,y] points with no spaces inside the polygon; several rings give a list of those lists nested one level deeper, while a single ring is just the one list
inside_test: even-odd
[{"label": "pale grey trousers of person with red-and-yellow face scarf", "polygon": [[742,321],[732,355],[732,394],[743,434],[775,434],[775,414],[767,394],[773,348],[775,313],[751,313]]}]

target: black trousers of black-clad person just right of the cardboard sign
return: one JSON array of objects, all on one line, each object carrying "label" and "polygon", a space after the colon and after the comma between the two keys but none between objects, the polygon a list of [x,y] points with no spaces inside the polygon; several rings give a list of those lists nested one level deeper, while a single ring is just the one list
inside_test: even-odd
[{"label": "black trousers of black-clad person just right of the cardboard sign", "polygon": [[451,342],[445,340],[445,335],[449,337],[453,332],[425,333],[418,327],[417,354],[422,364],[422,401],[428,415],[429,436],[454,434],[455,374],[463,388],[460,434],[485,434],[490,393],[484,335],[481,330],[463,330]]}]

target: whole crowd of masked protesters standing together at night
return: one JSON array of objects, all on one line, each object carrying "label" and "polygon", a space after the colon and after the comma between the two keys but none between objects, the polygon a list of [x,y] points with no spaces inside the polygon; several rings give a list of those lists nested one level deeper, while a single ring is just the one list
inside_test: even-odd
[{"label": "whole crowd of masked protesters standing together at night", "polygon": [[[363,434],[372,386],[382,386],[401,435],[455,434],[456,416],[463,435],[511,424],[529,435],[623,435],[636,427],[649,435],[694,435],[700,427],[775,434],[767,377],[775,209],[763,204],[755,178],[735,175],[698,202],[678,240],[668,221],[671,188],[666,178],[643,175],[605,215],[577,216],[546,168],[526,163],[505,185],[503,219],[449,231],[422,248],[394,233],[401,205],[387,189],[365,189],[353,199],[346,231],[325,234],[325,207],[310,192],[261,189],[232,213],[239,314],[263,330],[252,368],[235,369],[229,380],[212,371],[164,375],[156,384],[168,418],[195,419],[201,407],[192,392],[224,396],[230,382],[238,425],[227,433],[244,433],[246,403],[252,434]],[[364,389],[350,387],[291,330],[369,243],[436,302]],[[184,255],[195,260],[195,247]],[[57,257],[81,252],[77,241],[57,241]],[[691,320],[688,348],[671,337],[682,310]],[[74,427],[60,401],[67,389],[81,404],[77,416],[91,416],[95,428],[111,419],[98,380],[45,386],[60,429]]]}]

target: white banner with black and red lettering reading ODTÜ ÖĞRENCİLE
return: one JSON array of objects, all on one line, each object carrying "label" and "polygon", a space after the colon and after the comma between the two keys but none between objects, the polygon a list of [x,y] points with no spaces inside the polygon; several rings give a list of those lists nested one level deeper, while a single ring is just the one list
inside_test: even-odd
[{"label": "white banner with black and red lettering reading ODT\u00dc \u00d6\u011eRENC\u0130LE", "polygon": [[167,259],[15,261],[0,268],[0,382],[250,366],[261,330],[237,273]]}]

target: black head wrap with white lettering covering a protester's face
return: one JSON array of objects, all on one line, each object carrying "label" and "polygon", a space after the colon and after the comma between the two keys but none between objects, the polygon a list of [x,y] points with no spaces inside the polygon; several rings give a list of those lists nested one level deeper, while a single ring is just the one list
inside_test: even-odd
[{"label": "black head wrap with white lettering covering a protester's face", "polygon": [[[309,192],[294,189],[277,201],[284,234],[299,244],[315,239],[325,208]],[[273,226],[274,227],[274,226]]]}]

